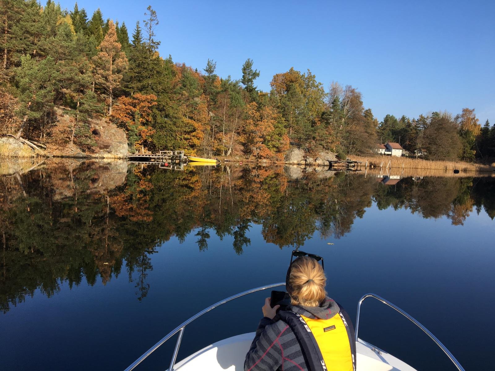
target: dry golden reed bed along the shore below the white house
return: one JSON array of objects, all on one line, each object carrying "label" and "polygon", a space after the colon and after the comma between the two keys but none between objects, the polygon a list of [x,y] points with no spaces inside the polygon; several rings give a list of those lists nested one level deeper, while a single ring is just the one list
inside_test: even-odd
[{"label": "dry golden reed bed along the shore below the white house", "polygon": [[[429,161],[418,158],[408,157],[394,157],[394,156],[373,156],[373,157],[360,157],[349,156],[354,161],[362,161],[363,165],[368,161],[369,165],[380,168],[386,171],[389,169],[416,169],[416,170],[444,170],[446,172],[457,169],[461,172],[475,171],[475,172],[493,172],[495,169],[495,163],[492,165],[480,165],[469,162],[454,162],[454,161]],[[390,163],[390,165],[389,165]]]}]

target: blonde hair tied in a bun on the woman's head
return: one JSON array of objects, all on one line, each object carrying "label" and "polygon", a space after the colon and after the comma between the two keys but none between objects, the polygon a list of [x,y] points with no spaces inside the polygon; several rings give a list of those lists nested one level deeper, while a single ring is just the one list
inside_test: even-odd
[{"label": "blonde hair tied in a bun on the woman's head", "polygon": [[289,284],[291,304],[317,307],[325,299],[327,278],[321,265],[307,256],[297,258],[291,266]]}]

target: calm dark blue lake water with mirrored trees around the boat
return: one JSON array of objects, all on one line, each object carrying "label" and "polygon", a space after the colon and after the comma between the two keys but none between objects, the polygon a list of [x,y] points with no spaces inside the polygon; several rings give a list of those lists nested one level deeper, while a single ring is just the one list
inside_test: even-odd
[{"label": "calm dark blue lake water with mirrored trees around the boat", "polygon": [[[493,177],[31,167],[0,164],[1,370],[123,370],[204,307],[283,281],[294,248],[324,257],[327,291],[351,317],[363,294],[376,293],[466,370],[493,369]],[[265,296],[188,326],[179,359],[254,331]],[[362,311],[364,340],[418,370],[454,370],[393,310],[369,301]],[[138,370],[166,369],[172,347]]]}]

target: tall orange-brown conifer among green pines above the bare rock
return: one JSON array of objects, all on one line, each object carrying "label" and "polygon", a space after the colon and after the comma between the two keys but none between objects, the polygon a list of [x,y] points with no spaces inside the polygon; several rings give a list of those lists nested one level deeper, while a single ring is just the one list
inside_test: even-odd
[{"label": "tall orange-brown conifer among green pines above the bare rock", "polygon": [[115,25],[110,20],[108,32],[98,46],[99,53],[93,57],[95,81],[109,99],[108,114],[112,114],[113,91],[120,86],[122,72],[127,69],[127,57],[117,42]]}]

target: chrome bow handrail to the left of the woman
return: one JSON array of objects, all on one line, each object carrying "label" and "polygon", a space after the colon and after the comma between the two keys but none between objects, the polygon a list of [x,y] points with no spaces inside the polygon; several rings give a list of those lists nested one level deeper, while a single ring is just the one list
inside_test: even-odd
[{"label": "chrome bow handrail to the left of the woman", "polygon": [[229,302],[231,300],[237,299],[237,298],[239,298],[241,296],[244,296],[244,295],[247,295],[247,294],[251,294],[251,293],[256,292],[256,291],[261,291],[261,290],[265,290],[267,288],[272,288],[272,287],[277,287],[277,286],[283,286],[283,285],[285,285],[285,282],[272,283],[270,285],[252,288],[250,290],[241,292],[239,294],[232,295],[232,296],[228,297],[227,299],[223,299],[223,300],[219,301],[218,303],[215,303],[213,305],[210,305],[208,308],[203,309],[201,312],[195,314],[189,320],[185,321],[181,325],[177,326],[174,330],[172,330],[171,332],[169,332],[165,337],[163,337],[155,345],[153,345],[151,348],[149,348],[148,351],[145,354],[143,354],[136,361],[134,361],[131,366],[129,366],[127,369],[125,369],[125,371],[131,371],[131,370],[133,370],[136,366],[138,366],[141,362],[143,362],[151,353],[153,353],[156,349],[158,349],[165,341],[167,341],[169,338],[171,338],[173,335],[175,335],[177,332],[180,331],[179,338],[177,339],[177,343],[175,344],[175,349],[174,349],[174,354],[172,356],[172,361],[170,362],[170,367],[168,369],[169,371],[173,371],[174,370],[175,361],[177,360],[177,353],[179,353],[179,347],[180,347],[181,342],[182,342],[182,335],[184,333],[184,328],[186,327],[186,325],[189,325],[191,322],[193,322],[194,320],[196,320],[198,317],[201,317],[206,312],[209,312],[212,309],[218,307],[219,305],[225,304],[225,303],[227,303],[227,302]]}]

